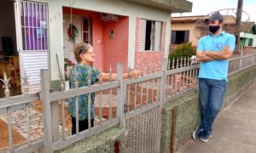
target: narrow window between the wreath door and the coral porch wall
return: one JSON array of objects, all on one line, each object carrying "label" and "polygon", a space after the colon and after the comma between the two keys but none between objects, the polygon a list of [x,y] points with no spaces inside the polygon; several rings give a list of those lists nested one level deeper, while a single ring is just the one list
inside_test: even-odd
[{"label": "narrow window between the wreath door and the coral porch wall", "polygon": [[83,19],[83,41],[92,44],[90,18]]}]

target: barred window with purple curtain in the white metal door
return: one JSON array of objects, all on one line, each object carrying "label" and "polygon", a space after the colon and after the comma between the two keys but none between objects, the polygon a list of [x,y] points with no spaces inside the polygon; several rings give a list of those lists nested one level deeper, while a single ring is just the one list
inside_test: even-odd
[{"label": "barred window with purple curtain in the white metal door", "polygon": [[48,5],[20,2],[21,36],[24,51],[48,51]]}]

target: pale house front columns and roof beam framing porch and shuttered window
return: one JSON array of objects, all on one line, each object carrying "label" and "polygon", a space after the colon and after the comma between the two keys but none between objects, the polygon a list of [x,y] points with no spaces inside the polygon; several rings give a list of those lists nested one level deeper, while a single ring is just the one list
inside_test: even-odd
[{"label": "pale house front columns and roof beam framing porch and shuttered window", "polygon": [[135,39],[136,39],[136,19],[143,18],[148,20],[159,20],[166,22],[166,44],[165,57],[168,55],[170,42],[171,18],[168,12],[163,10],[148,8],[137,3],[129,3],[120,0],[37,0],[38,2],[49,4],[49,45],[50,45],[50,72],[51,79],[58,79],[58,66],[55,54],[58,54],[61,69],[63,70],[63,14],[62,7],[70,7],[73,3],[73,8],[81,8],[96,12],[119,14],[129,16],[129,42],[128,42],[128,62],[131,67],[134,67],[135,61]]}]

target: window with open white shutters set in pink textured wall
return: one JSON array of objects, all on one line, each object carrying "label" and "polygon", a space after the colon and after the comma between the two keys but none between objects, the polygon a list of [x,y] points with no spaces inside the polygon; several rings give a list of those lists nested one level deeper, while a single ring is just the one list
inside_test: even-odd
[{"label": "window with open white shutters set in pink textured wall", "polygon": [[162,22],[140,20],[140,51],[160,51]]}]

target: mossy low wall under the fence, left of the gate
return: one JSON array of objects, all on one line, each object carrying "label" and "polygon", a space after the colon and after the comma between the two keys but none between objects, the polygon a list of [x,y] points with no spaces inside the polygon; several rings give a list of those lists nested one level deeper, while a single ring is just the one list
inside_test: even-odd
[{"label": "mossy low wall under the fence, left of the gate", "polygon": [[129,152],[128,132],[119,127],[112,127],[102,133],[95,134],[88,139],[81,140],[69,147],[58,150],[58,153],[102,153]]}]

